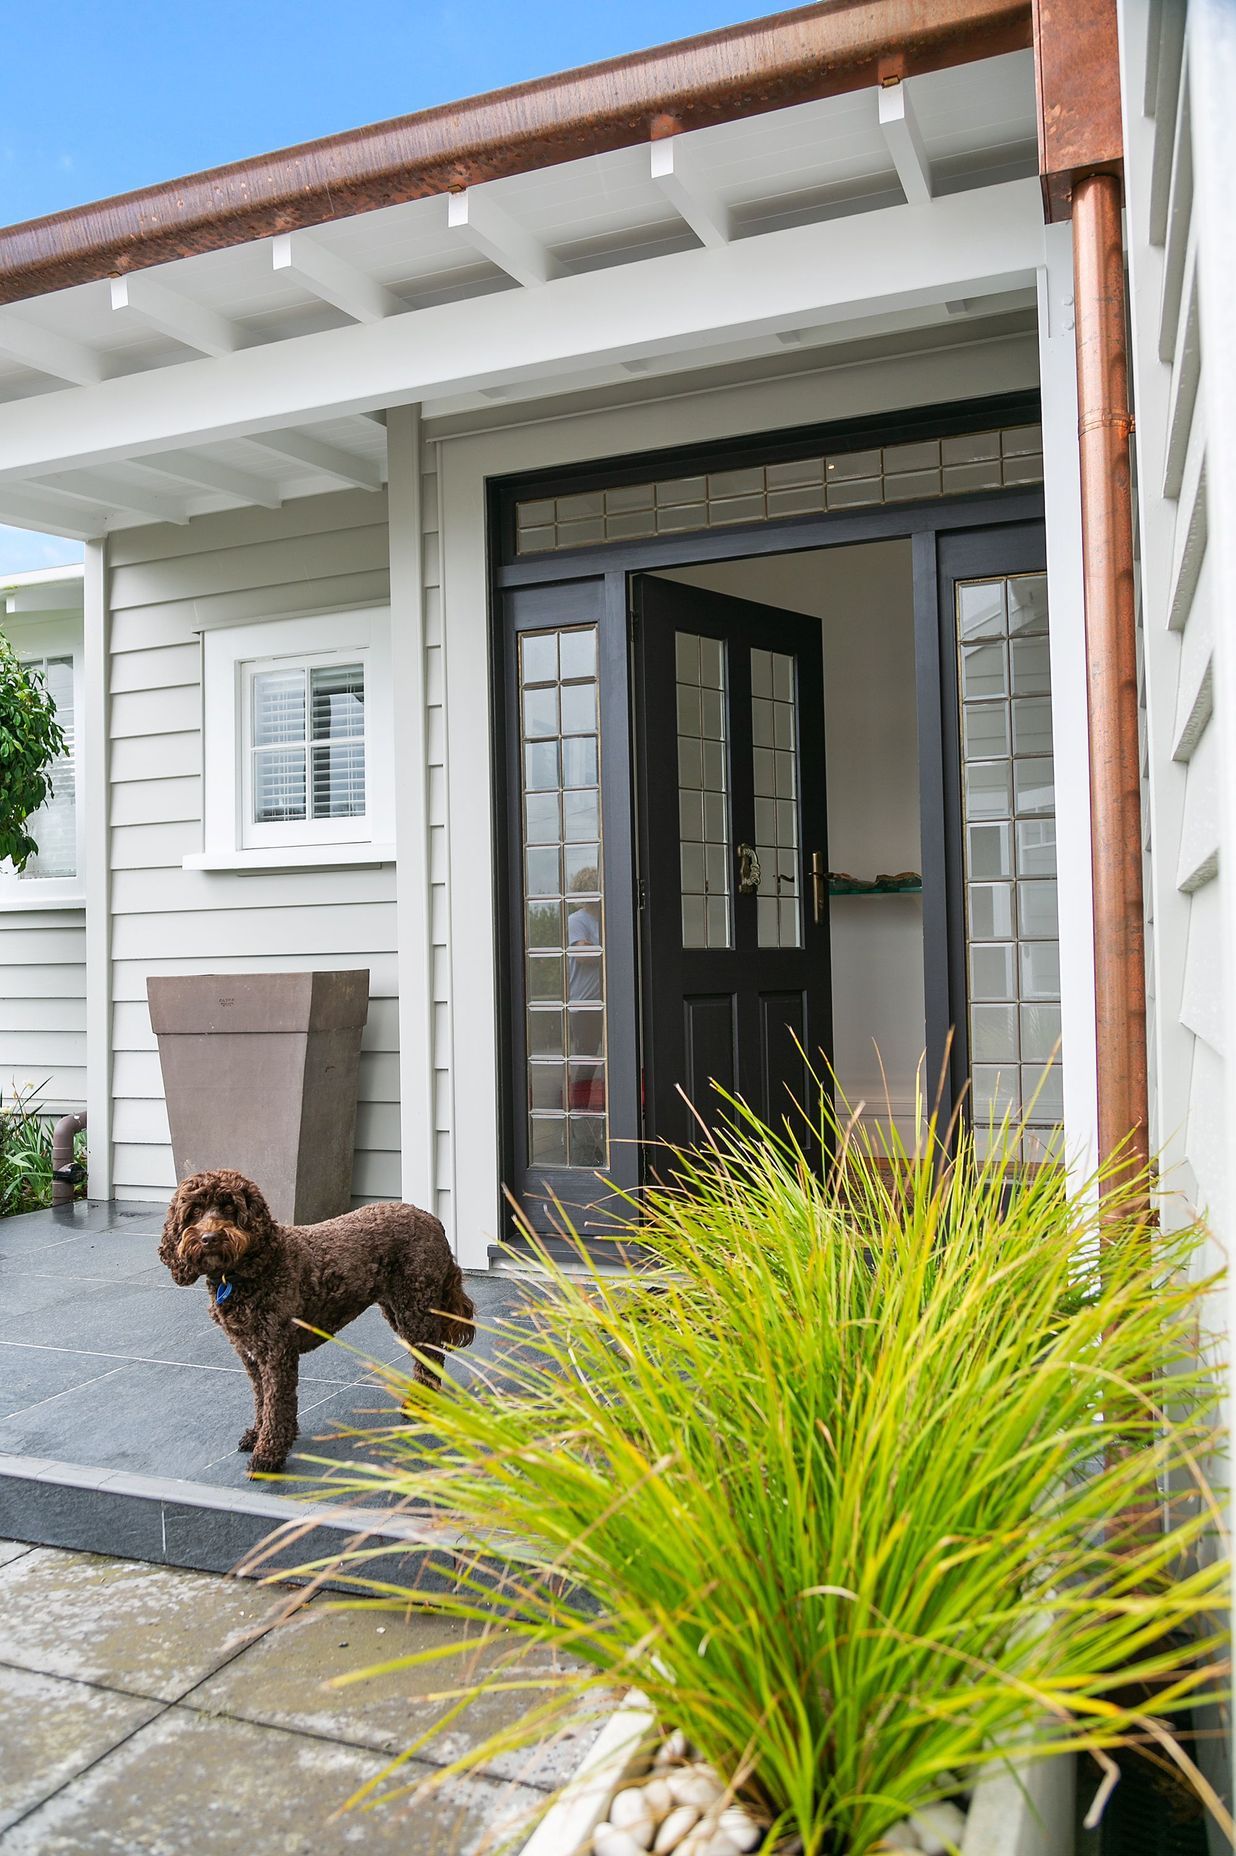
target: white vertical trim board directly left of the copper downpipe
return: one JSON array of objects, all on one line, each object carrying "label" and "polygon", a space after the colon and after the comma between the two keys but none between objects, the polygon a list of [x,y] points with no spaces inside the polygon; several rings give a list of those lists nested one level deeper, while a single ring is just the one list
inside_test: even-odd
[{"label": "white vertical trim board directly left of the copper downpipe", "polygon": [[1073,226],[1043,230],[1039,379],[1047,516],[1052,750],[1056,761],[1056,895],[1060,908],[1060,1036],[1065,1151],[1080,1179],[1099,1158],[1095,1041],[1095,906],[1089,835],[1089,722],[1082,579],[1082,483],[1076,449]]}]

